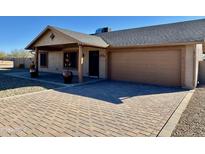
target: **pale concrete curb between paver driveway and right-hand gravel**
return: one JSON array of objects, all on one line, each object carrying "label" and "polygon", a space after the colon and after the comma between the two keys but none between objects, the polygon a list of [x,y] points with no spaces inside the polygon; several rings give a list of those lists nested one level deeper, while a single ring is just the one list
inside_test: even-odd
[{"label": "pale concrete curb between paver driveway and right-hand gravel", "polygon": [[160,133],[157,135],[158,137],[171,137],[172,132],[174,131],[177,123],[179,122],[182,113],[186,109],[194,91],[195,90],[190,90],[188,94],[183,98],[177,109],[174,111],[174,113],[171,115]]}]

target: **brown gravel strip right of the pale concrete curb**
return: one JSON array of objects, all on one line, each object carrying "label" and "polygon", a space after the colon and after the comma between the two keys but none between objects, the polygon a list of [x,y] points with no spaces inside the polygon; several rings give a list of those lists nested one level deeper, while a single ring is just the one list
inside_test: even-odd
[{"label": "brown gravel strip right of the pale concrete curb", "polygon": [[205,136],[205,87],[195,90],[172,136]]}]

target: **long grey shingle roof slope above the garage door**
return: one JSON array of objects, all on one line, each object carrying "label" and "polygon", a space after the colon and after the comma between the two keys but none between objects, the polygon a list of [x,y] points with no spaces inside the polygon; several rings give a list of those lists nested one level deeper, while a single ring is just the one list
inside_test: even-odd
[{"label": "long grey shingle roof slope above the garage door", "polygon": [[205,19],[96,34],[110,46],[161,45],[203,41]]}]

